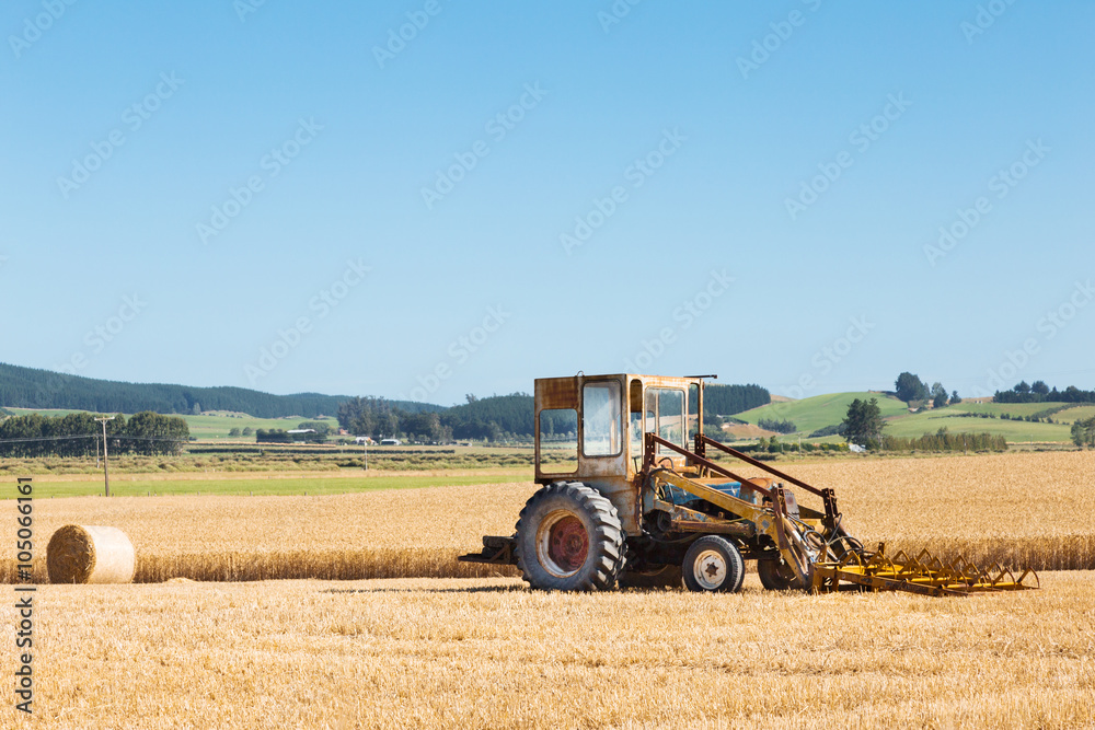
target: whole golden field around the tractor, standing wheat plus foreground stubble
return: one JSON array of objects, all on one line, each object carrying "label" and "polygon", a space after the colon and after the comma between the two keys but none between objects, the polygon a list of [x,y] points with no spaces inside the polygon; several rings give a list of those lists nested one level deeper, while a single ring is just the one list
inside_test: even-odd
[{"label": "whole golden field around the tractor, standing wheat plus foreground stubble", "polygon": [[[150,582],[39,587],[34,725],[1095,726],[1095,454],[788,471],[889,549],[1086,569],[955,599],[772,593],[754,575],[730,595],[553,594],[454,559],[512,531],[529,483],[37,500],[39,546],[68,522],[119,526]],[[295,579],[189,580],[270,577]],[[25,723],[13,704],[0,726]]]}]

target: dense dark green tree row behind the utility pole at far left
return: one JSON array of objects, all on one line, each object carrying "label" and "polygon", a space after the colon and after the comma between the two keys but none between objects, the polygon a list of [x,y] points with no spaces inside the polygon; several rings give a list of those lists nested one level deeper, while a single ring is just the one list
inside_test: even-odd
[{"label": "dense dark green tree row behind the utility pole at far left", "polygon": [[[102,448],[102,424],[89,413],[12,416],[0,421],[0,456],[91,456]],[[185,420],[150,410],[106,421],[111,454],[176,455],[189,437]]]}]

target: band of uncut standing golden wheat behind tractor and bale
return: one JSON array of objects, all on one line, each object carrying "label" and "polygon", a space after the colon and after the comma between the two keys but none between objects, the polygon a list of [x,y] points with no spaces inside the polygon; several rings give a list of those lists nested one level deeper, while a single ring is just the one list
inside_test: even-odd
[{"label": "band of uncut standing golden wheat behind tractor and bale", "polygon": [[[884,540],[889,552],[930,547],[982,564],[1095,568],[1095,452],[786,470],[833,487],[845,525],[868,547]],[[35,531],[44,544],[64,524],[120,528],[137,551],[138,582],[486,577],[499,571],[457,563],[457,555],[479,549],[481,535],[510,534],[534,490],[517,483],[318,497],[46,499],[35,503]],[[3,568],[10,581],[10,558]]]}]

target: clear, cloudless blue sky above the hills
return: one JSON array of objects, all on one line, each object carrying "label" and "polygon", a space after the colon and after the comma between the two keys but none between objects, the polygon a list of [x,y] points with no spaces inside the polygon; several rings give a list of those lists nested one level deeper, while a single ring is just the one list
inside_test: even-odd
[{"label": "clear, cloudless blue sky above the hills", "polygon": [[445,405],[578,370],[1095,387],[1093,30],[1079,0],[11,0],[0,361]]}]

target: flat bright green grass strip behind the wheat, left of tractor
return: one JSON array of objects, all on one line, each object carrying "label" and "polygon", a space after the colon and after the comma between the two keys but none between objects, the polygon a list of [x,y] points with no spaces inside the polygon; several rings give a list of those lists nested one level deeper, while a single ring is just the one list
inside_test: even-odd
[{"label": "flat bright green grass strip behind the wheat, left of tractor", "polygon": [[[146,495],[339,495],[347,493],[378,491],[381,489],[417,489],[420,487],[459,487],[479,484],[531,482],[532,470],[492,470],[491,474],[472,476],[397,475],[374,477],[289,477],[270,476],[246,479],[142,479],[112,477],[111,495],[115,497],[143,497]],[[89,497],[103,494],[103,480],[37,480],[34,496]],[[4,498],[14,498],[14,489],[4,491]]]}]

